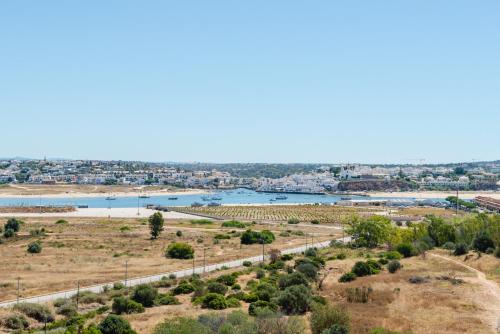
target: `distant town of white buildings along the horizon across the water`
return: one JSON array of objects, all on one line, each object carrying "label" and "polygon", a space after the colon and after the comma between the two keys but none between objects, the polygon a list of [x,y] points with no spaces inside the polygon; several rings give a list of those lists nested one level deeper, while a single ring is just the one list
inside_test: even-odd
[{"label": "distant town of white buildings along the horizon across the water", "polygon": [[[202,169],[203,167],[205,169]],[[260,168],[266,168],[263,164]],[[0,160],[0,184],[168,185],[193,189],[245,187],[262,192],[497,190],[500,161],[453,165],[324,164],[274,177],[239,175],[231,164],[98,160]]]}]

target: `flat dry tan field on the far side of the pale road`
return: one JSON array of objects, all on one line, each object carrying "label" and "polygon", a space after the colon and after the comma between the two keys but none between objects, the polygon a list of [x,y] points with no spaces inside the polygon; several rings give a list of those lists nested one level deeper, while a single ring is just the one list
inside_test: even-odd
[{"label": "flat dry tan field on the far side of the pale road", "polygon": [[[2,221],[2,225],[3,222]],[[244,245],[240,249],[240,239],[219,240],[214,244],[214,236],[227,233],[234,228],[221,228],[220,222],[212,225],[195,225],[189,221],[166,221],[165,231],[157,240],[150,240],[145,219],[89,219],[67,218],[67,224],[56,224],[56,218],[24,219],[18,237],[0,244],[0,301],[16,298],[17,278],[21,279],[21,296],[33,296],[105,283],[124,278],[125,261],[128,261],[128,276],[138,277],[149,274],[174,271],[192,266],[191,260],[167,259],[164,251],[172,241],[191,244],[195,249],[195,264],[203,263],[203,247],[206,263],[225,262],[246,256],[258,255],[259,245]],[[34,236],[30,231],[45,229],[44,236]],[[284,229],[305,227],[255,225],[256,230],[270,229],[276,234],[272,248],[290,248],[305,243],[304,236],[280,237]],[[182,236],[176,236],[176,231]],[[332,238],[335,230],[321,232],[309,228],[315,240]],[[28,254],[27,245],[41,240],[40,254]],[[310,237],[309,237],[310,240]],[[310,242],[310,241],[309,241]]]}]

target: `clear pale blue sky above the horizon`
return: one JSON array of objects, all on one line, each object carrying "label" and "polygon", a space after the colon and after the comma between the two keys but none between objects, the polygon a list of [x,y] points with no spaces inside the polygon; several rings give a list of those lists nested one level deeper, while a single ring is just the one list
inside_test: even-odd
[{"label": "clear pale blue sky above the horizon", "polygon": [[2,1],[0,116],[0,157],[500,159],[500,1]]}]

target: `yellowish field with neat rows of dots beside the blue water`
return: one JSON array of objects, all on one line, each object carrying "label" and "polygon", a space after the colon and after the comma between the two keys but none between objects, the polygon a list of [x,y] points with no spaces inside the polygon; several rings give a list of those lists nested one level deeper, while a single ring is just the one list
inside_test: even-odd
[{"label": "yellowish field with neat rows of dots beside the blue water", "polygon": [[287,221],[298,218],[303,223],[341,223],[352,215],[370,215],[384,211],[381,208],[353,208],[333,205],[241,205],[218,207],[184,207],[176,211],[203,214],[226,219],[255,221]]}]

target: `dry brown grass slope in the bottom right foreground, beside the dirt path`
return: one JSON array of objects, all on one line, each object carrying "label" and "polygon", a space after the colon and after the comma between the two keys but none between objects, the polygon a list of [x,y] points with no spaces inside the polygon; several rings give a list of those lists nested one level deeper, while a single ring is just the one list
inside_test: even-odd
[{"label": "dry brown grass slope in the bottom right foreground, beside the dirt path", "polygon": [[[401,260],[403,269],[394,274],[383,271],[339,283],[341,274],[349,271],[357,260],[362,258],[354,255],[345,261],[327,262],[326,267],[333,273],[325,280],[321,292],[328,300],[347,308],[351,315],[351,333],[367,333],[374,327],[414,334],[495,333],[494,313],[500,300],[495,305],[488,288],[471,271],[428,254],[425,259],[419,256]],[[479,263],[484,267],[496,263],[498,267],[499,261],[487,255],[479,259],[477,265]],[[426,282],[412,284],[409,282],[412,276],[424,277]],[[464,282],[452,284],[442,277]],[[356,287],[373,290],[367,303],[347,301],[347,289]]]}]

